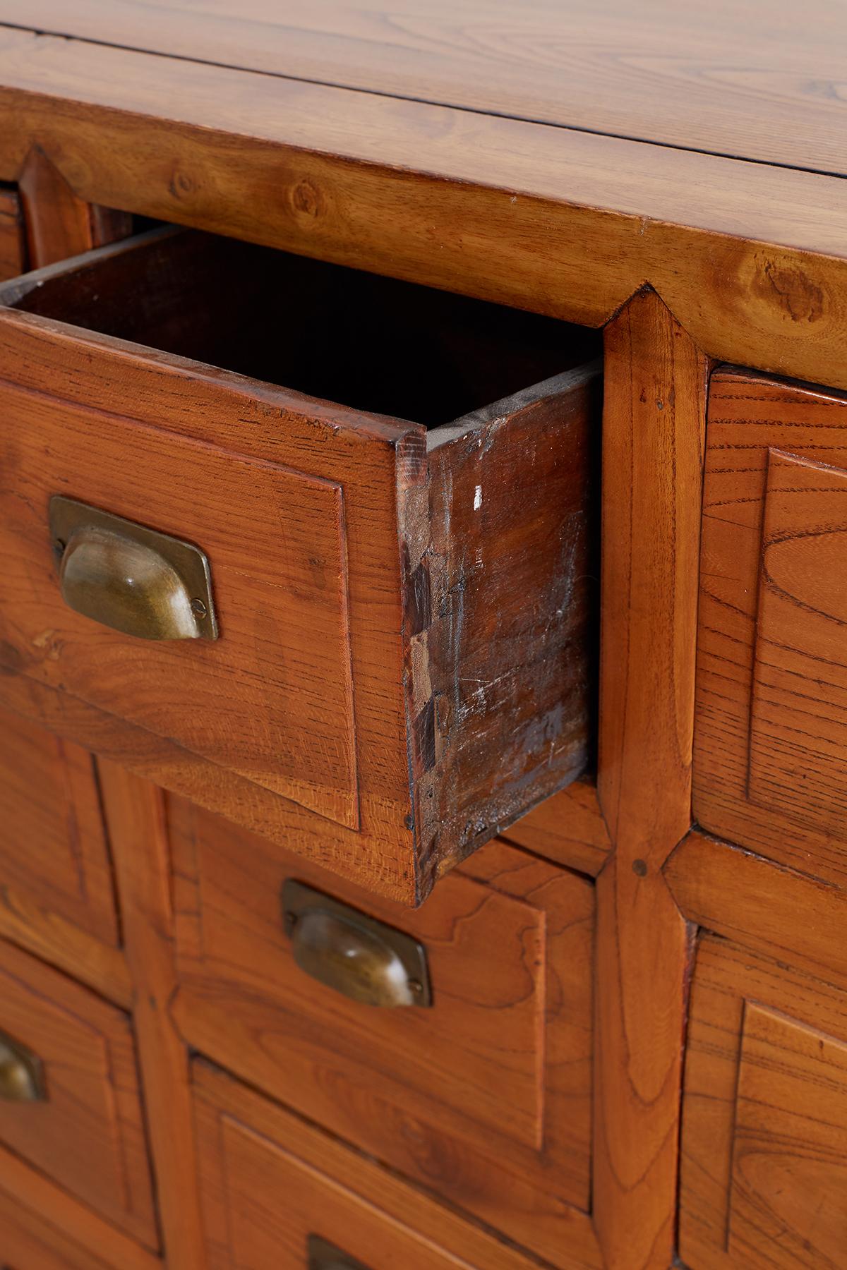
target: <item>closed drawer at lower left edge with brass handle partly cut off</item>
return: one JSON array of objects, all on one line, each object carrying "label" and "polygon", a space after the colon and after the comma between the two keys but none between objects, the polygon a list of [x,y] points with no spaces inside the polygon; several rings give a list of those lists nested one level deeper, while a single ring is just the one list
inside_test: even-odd
[{"label": "closed drawer at lower left edge with brass handle partly cut off", "polygon": [[130,1020],[0,944],[0,1143],[156,1247]]}]

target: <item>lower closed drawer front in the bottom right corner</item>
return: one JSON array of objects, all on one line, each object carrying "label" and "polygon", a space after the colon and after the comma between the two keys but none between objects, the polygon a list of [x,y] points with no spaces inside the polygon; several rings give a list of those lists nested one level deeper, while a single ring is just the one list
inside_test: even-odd
[{"label": "lower closed drawer front in the bottom right corner", "polygon": [[844,1265],[847,993],[716,936],[695,968],[679,1252],[693,1270]]}]

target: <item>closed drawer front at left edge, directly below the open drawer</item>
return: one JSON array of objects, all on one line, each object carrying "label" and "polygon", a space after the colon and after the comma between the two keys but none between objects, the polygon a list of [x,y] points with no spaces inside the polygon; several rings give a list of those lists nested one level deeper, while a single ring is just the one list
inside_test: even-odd
[{"label": "closed drawer front at left edge, directly below the open drawer", "polygon": [[0,711],[0,885],[117,945],[118,923],[91,756]]}]

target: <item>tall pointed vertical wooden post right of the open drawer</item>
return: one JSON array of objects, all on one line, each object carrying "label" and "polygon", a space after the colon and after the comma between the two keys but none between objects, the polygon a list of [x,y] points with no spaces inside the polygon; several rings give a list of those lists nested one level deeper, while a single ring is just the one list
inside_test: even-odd
[{"label": "tall pointed vertical wooden post right of the open drawer", "polygon": [[690,935],[662,865],[691,824],[707,362],[659,296],[606,331],[593,1212],[606,1264],[673,1255]]}]

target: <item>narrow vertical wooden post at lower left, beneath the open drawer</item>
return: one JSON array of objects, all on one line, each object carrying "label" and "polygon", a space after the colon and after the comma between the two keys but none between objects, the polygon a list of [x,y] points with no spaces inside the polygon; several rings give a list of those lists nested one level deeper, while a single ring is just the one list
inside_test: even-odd
[{"label": "narrow vertical wooden post at lower left, beneath the open drawer", "polygon": [[133,1022],[165,1257],[179,1270],[203,1270],[188,1054],[170,1017],[177,975],[164,795],[107,762],[100,763],[100,780],[135,991]]}]

